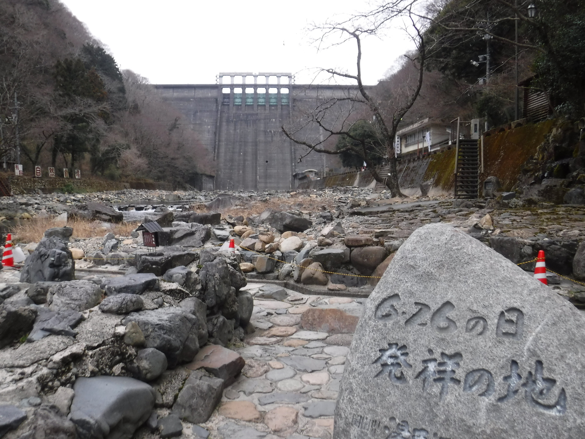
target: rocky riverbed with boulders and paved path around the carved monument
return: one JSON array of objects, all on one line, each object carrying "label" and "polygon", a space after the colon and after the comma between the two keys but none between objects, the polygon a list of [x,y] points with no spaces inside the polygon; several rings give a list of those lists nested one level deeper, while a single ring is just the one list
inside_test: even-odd
[{"label": "rocky riverbed with boulders and paved path around the carved monument", "polygon": [[[9,438],[331,438],[367,296],[425,224],[449,223],[514,263],[544,249],[550,269],[585,277],[580,205],[333,188],[51,194],[0,206],[5,227],[43,217],[99,226],[91,238],[49,229],[18,244],[22,269],[0,271]],[[130,219],[159,222],[156,252],[141,232],[111,232]],[[530,276],[534,262],[521,266]],[[580,284],[548,277],[550,291],[585,302]]]}]

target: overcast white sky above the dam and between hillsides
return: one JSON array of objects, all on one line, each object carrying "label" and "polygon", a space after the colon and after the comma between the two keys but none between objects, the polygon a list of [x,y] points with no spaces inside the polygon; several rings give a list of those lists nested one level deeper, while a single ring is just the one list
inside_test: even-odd
[{"label": "overcast white sky above the dam and between hillsides", "polygon": [[[214,84],[225,72],[291,72],[309,83],[316,67],[355,73],[355,44],[319,50],[305,28],[364,11],[368,0],[61,0],[109,47],[122,69],[153,84]],[[363,80],[376,84],[412,44],[400,29],[363,42]],[[325,78],[318,81],[321,82]]]}]

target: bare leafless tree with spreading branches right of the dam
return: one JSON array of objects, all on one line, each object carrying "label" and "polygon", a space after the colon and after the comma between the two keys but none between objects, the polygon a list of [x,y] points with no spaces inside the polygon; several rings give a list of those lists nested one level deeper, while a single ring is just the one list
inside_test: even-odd
[{"label": "bare leafless tree with spreading branches right of the dam", "polygon": [[[414,2],[394,0],[381,4],[373,11],[362,15],[353,16],[349,20],[337,23],[325,23],[314,26],[314,32],[321,35],[316,40],[319,45],[328,42],[332,37],[338,38],[331,46],[353,42],[356,44],[356,73],[350,74],[333,68],[321,69],[331,75],[335,80],[351,80],[356,84],[356,92],[347,92],[342,97],[329,98],[319,102],[315,108],[304,112],[303,118],[296,125],[282,129],[284,134],[298,145],[308,148],[305,155],[311,152],[338,155],[351,151],[362,157],[367,169],[379,183],[386,183],[393,197],[404,197],[398,186],[398,173],[396,169],[396,157],[394,139],[401,119],[412,107],[421,91],[424,76],[426,47],[422,32],[425,20],[417,18],[412,12]],[[381,101],[372,94],[371,88],[363,84],[362,80],[362,37],[373,35],[380,36],[383,30],[391,22],[401,19],[408,23],[408,29],[416,44],[416,50],[405,55],[409,62],[417,68],[417,76],[414,81],[405,84],[400,93],[395,94],[390,102]],[[388,177],[380,176],[374,164],[369,158],[369,142],[352,133],[353,124],[359,120],[373,119],[378,136],[384,146],[384,155],[388,160]],[[312,135],[318,128],[318,135]],[[346,136],[353,142],[345,148],[333,150],[325,148],[326,142],[336,136]]]}]

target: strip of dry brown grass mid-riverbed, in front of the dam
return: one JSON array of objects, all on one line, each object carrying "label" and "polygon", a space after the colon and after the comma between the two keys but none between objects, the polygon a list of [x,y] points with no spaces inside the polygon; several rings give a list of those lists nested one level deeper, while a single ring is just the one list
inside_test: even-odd
[{"label": "strip of dry brown grass mid-riverbed, in front of the dam", "polygon": [[[246,206],[231,207],[219,210],[222,217],[230,215],[231,217],[238,217],[242,215],[244,218],[252,215],[260,215],[266,209],[272,210],[307,210],[307,211],[321,211],[322,206],[325,210],[333,208],[333,198],[312,198],[309,196],[298,196],[290,198],[273,197],[268,201],[251,201]],[[204,204],[193,204],[191,210],[194,212],[207,212],[207,207]]]}]

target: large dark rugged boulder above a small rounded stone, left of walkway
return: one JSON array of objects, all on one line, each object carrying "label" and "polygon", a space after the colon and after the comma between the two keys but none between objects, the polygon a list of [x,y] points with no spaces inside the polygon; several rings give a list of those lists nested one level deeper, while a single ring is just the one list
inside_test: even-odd
[{"label": "large dark rugged boulder above a small rounded stone, left of walkway", "polygon": [[168,366],[191,361],[199,351],[197,317],[183,307],[166,307],[130,313],[123,325],[136,322],[146,338],[146,347],[167,356]]}]

